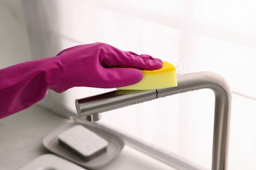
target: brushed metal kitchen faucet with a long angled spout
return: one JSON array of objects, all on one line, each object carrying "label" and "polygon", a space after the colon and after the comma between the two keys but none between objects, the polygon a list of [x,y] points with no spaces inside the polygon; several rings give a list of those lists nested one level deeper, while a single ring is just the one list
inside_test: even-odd
[{"label": "brushed metal kitchen faucet with a long angled spout", "polygon": [[177,93],[209,88],[215,93],[212,169],[227,169],[231,90],[222,76],[211,72],[178,76],[178,86],[156,90],[116,90],[75,100],[79,118],[100,120],[100,112],[114,110]]}]

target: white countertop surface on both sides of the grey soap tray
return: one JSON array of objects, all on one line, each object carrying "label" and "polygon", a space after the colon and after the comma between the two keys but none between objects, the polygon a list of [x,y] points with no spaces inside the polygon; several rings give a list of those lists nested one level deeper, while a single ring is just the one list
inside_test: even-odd
[{"label": "white countertop surface on both sides of the grey soap tray", "polygon": [[[70,120],[39,105],[0,120],[0,169],[19,169],[48,154],[43,138]],[[173,169],[165,163],[125,145],[119,156],[103,169]]]}]

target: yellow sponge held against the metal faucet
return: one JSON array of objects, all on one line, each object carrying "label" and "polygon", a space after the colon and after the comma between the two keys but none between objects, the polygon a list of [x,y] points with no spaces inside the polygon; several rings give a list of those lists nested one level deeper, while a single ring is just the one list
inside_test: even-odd
[{"label": "yellow sponge held against the metal faucet", "polygon": [[143,78],[137,84],[117,88],[118,90],[152,90],[177,86],[177,74],[175,67],[163,62],[163,67],[158,70],[142,70]]}]

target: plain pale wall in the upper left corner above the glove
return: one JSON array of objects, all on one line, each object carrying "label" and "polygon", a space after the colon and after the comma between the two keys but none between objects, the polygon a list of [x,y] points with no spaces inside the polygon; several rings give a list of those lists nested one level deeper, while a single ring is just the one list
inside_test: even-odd
[{"label": "plain pale wall in the upper left corner above the glove", "polygon": [[0,68],[32,59],[22,2],[0,0]]}]

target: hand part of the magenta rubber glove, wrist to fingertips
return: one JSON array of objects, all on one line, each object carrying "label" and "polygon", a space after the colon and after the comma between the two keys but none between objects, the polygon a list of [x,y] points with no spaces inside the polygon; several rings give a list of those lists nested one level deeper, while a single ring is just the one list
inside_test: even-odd
[{"label": "hand part of the magenta rubber glove, wrist to fingertips", "polygon": [[[95,88],[128,86],[142,79],[142,72],[138,69],[154,70],[162,67],[160,59],[123,52],[100,42],[68,48],[60,52],[57,58],[60,69],[56,70],[57,73],[54,74],[56,76],[50,85],[55,92],[64,92],[74,86]],[[133,68],[118,68],[118,66]]]}]

